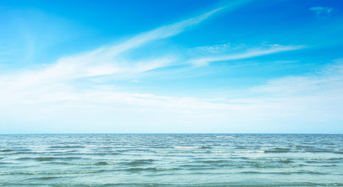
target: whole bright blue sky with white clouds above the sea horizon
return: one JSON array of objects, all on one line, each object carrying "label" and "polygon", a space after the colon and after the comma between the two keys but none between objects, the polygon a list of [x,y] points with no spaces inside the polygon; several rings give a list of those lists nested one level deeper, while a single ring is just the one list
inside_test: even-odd
[{"label": "whole bright blue sky with white clouds above the sea horizon", "polygon": [[0,134],[343,134],[340,0],[2,0],[0,25]]}]

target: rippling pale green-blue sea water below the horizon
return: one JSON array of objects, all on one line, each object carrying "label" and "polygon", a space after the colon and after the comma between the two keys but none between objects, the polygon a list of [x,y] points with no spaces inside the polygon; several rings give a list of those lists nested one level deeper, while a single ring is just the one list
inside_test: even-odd
[{"label": "rippling pale green-blue sea water below the horizon", "polygon": [[343,186],[343,135],[0,135],[0,186]]}]

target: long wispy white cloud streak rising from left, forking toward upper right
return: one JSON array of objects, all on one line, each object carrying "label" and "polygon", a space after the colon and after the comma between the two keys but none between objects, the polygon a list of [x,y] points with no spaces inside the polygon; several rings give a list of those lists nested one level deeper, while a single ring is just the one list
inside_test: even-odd
[{"label": "long wispy white cloud streak rising from left, forking toward upper right", "polygon": [[167,66],[171,62],[174,62],[175,59],[168,57],[130,62],[118,58],[117,55],[123,51],[140,47],[152,40],[175,36],[187,27],[197,25],[215,14],[215,12],[223,9],[217,8],[178,23],[153,29],[150,32],[139,34],[117,45],[101,47],[94,51],[80,53],[78,55],[62,57],[53,64],[45,64],[31,71],[19,71],[12,75],[5,75],[3,76],[3,82],[8,84],[15,82],[15,85],[19,87],[27,87],[31,84],[66,81],[83,77],[95,77],[116,73],[139,73]]}]

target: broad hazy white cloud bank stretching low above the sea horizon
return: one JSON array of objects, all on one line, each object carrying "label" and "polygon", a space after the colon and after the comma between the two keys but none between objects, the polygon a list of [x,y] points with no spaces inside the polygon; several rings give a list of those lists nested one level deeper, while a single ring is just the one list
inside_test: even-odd
[{"label": "broad hazy white cloud bank stretching low above the sea horizon", "polygon": [[[140,125],[147,127],[143,132],[158,132],[161,124],[167,124],[161,128],[171,132],[192,132],[195,126],[201,132],[209,124],[216,132],[218,129],[237,132],[245,127],[248,127],[245,132],[269,132],[268,124],[274,128],[271,132],[292,132],[298,126],[303,132],[323,132],[332,126],[318,124],[343,121],[342,70],[342,63],[337,62],[317,74],[272,79],[264,85],[241,91],[242,95],[248,92],[253,97],[235,99],[225,95],[220,99],[170,97],[123,92],[108,85],[77,88],[73,84],[54,82],[1,90],[0,112],[7,119],[20,116],[21,121],[70,124],[76,118],[70,127],[73,129],[69,129],[71,132],[85,124],[90,125],[87,127],[90,132],[98,129],[108,132],[107,128],[113,126],[106,124],[120,127],[120,132],[130,132]],[[1,88],[5,87],[1,85]],[[97,123],[97,129],[91,123]],[[116,126],[120,123],[128,126]],[[182,124],[182,129],[172,128],[173,124]],[[336,125],[335,130],[339,127]],[[69,127],[62,125],[61,128]]]}]

